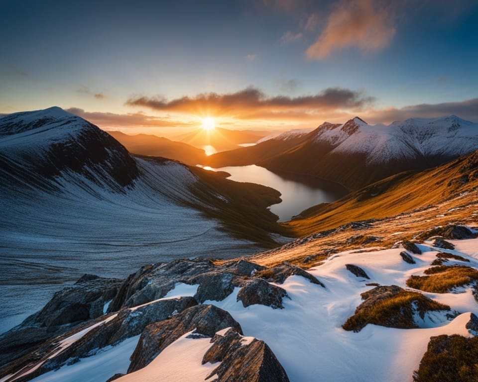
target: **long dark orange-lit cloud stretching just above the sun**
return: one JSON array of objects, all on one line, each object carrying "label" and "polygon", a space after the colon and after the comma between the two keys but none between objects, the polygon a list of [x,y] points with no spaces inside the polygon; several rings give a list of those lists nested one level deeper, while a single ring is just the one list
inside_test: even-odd
[{"label": "long dark orange-lit cloud stretching just above the sun", "polygon": [[158,111],[196,115],[211,113],[216,116],[228,115],[246,118],[251,113],[258,115],[260,112],[270,115],[273,112],[297,112],[300,110],[362,110],[370,106],[373,101],[373,97],[366,96],[363,92],[342,88],[328,88],[316,95],[290,97],[286,95],[267,96],[260,90],[250,87],[235,93],[204,93],[172,100],[161,96],[142,96],[130,98],[125,104],[149,107]]}]

